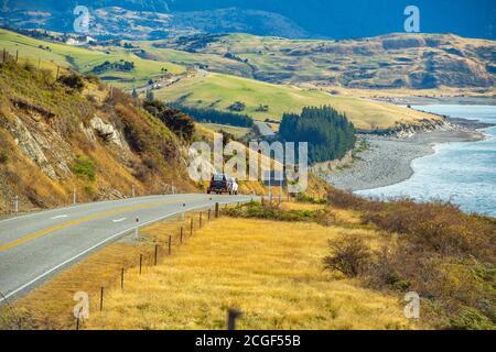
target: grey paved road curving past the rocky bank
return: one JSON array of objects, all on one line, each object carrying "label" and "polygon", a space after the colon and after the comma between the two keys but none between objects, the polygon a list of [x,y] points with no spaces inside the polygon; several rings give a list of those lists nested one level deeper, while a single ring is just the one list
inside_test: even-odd
[{"label": "grey paved road curving past the rocky bank", "polygon": [[[212,199],[212,200],[211,200]],[[249,196],[173,195],[87,204],[0,221],[0,304],[140,226]],[[185,207],[183,206],[185,205]]]}]

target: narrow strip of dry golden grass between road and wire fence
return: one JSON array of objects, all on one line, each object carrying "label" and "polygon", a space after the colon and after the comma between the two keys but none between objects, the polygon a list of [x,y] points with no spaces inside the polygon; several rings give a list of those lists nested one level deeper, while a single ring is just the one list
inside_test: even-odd
[{"label": "narrow strip of dry golden grass between road and wire fence", "polygon": [[[185,237],[190,235],[191,219],[194,218],[194,230],[198,228],[200,215],[192,212],[182,221],[170,219],[154,224],[140,232],[139,241],[125,238],[90,255],[79,264],[62,272],[52,280],[40,286],[31,294],[15,302],[20,312],[25,312],[35,329],[74,329],[73,309],[76,304],[73,297],[77,292],[86,292],[90,297],[90,309],[99,309],[100,287],[105,292],[120,287],[120,272],[139,271],[140,254],[143,255],[143,273],[154,264],[154,245],[160,245],[159,260],[166,252],[169,235],[173,235],[173,245],[180,242],[181,226]],[[203,219],[207,216],[204,212]]]}]

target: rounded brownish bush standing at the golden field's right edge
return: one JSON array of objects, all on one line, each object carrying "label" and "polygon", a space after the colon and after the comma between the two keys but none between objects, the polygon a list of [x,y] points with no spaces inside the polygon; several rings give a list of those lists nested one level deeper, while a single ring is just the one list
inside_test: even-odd
[{"label": "rounded brownish bush standing at the golden field's right edge", "polygon": [[360,238],[343,235],[337,240],[328,241],[328,246],[332,253],[324,257],[326,270],[356,277],[364,273],[370,263],[370,250]]}]

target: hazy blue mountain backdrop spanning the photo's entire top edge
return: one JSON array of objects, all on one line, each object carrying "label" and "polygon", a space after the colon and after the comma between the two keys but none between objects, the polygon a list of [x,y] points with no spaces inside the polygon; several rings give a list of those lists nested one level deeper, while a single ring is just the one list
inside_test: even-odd
[{"label": "hazy blue mountain backdrop spanning the photo's entire top edge", "polygon": [[[69,31],[76,4],[91,13],[118,7],[137,12],[137,21],[147,28],[153,14],[179,18],[181,26],[194,30],[235,32],[287,37],[353,38],[403,32],[410,0],[0,0],[3,22],[19,26],[51,25]],[[496,38],[494,0],[416,0],[420,9],[421,32],[454,33],[465,37]],[[236,8],[236,12],[231,9]],[[228,10],[226,10],[228,9]],[[30,12],[25,12],[25,11]],[[39,13],[36,13],[39,12]],[[42,13],[40,13],[42,12]],[[149,12],[152,14],[143,14]],[[1,12],[0,12],[1,13]],[[22,15],[20,14],[22,13]],[[50,19],[47,19],[50,18]],[[21,19],[21,23],[17,20]],[[186,23],[187,20],[187,23]],[[100,19],[101,23],[111,19]],[[215,21],[215,22],[212,22]],[[126,22],[122,23],[122,28]],[[159,29],[165,30],[169,28]],[[123,31],[126,33],[127,31]]]}]

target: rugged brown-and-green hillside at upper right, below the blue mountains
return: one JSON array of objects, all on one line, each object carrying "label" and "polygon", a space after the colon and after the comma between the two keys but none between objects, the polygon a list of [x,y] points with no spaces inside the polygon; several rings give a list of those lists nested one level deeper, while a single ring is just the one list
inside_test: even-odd
[{"label": "rugged brown-and-green hillside at upper right, below the blue mountains", "polygon": [[495,42],[451,34],[400,33],[343,41],[228,34],[204,41],[197,36],[170,40],[162,46],[229,57],[240,65],[237,75],[271,82],[486,90],[495,82]]}]

